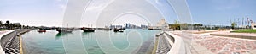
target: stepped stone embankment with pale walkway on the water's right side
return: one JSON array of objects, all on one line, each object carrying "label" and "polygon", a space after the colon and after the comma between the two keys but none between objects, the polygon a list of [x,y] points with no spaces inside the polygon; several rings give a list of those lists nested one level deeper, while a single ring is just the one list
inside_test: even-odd
[{"label": "stepped stone embankment with pale walkway on the water's right side", "polygon": [[160,33],[156,40],[153,54],[191,54],[190,43],[170,31]]}]

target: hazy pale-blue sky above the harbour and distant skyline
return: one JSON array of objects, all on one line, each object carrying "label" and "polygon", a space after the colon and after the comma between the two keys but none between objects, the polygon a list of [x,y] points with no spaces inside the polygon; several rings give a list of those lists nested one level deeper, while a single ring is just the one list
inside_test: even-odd
[{"label": "hazy pale-blue sky above the harbour and distant skyline", "polygon": [[[99,15],[117,0],[90,0],[86,5],[80,26],[96,27]],[[136,1],[136,0],[135,0]],[[256,21],[255,0],[186,0],[193,23],[230,25],[231,21],[249,18]],[[62,26],[62,20],[67,8],[67,0],[0,0],[0,20],[9,20],[11,23],[20,22],[32,26]],[[123,5],[125,1],[118,4]],[[137,5],[150,3],[157,8],[161,15],[154,21],[165,18],[169,24],[177,19],[177,14],[166,0],[145,0],[136,2]],[[125,5],[124,4],[124,5]],[[131,5],[132,6],[132,5]],[[136,7],[136,6],[134,6]],[[113,8],[115,8],[113,6]],[[122,9],[122,8],[121,8]],[[123,9],[126,9],[124,7]],[[129,10],[129,8],[128,8]],[[142,11],[151,11],[151,7],[138,8]],[[119,12],[119,11],[117,11]],[[121,11],[120,11],[121,12]],[[142,12],[150,13],[150,12]],[[113,24],[148,24],[146,19],[133,14],[119,17]],[[104,25],[102,25],[104,26]]]}]

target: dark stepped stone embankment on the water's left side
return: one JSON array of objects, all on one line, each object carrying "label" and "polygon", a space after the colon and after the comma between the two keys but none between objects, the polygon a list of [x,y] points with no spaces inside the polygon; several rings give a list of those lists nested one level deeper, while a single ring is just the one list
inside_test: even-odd
[{"label": "dark stepped stone embankment on the water's left side", "polygon": [[[1,54],[20,54],[20,41],[19,35],[23,34],[30,29],[22,30],[5,30],[1,36]],[[1,31],[2,32],[2,31]]]}]

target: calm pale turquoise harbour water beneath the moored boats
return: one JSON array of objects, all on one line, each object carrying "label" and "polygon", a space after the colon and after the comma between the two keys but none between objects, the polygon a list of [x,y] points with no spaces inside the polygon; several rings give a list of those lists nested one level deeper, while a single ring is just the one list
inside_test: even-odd
[{"label": "calm pale turquoise harbour water beneath the moored boats", "polygon": [[[130,54],[142,52],[145,44],[154,41],[159,30],[125,30],[123,33],[96,30],[84,33],[82,30],[69,34],[58,34],[55,30],[38,33],[32,30],[24,35],[23,47],[27,54]],[[143,46],[142,46],[143,45]],[[147,47],[147,46],[145,46]],[[143,51],[147,51],[144,49]]]}]

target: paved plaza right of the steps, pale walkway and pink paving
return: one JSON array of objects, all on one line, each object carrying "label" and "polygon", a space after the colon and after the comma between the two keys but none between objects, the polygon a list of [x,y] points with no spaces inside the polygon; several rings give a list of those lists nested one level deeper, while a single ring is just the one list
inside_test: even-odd
[{"label": "paved plaza right of the steps, pale walkway and pink paving", "polygon": [[218,31],[204,34],[186,34],[183,32],[172,32],[183,37],[184,41],[191,41],[193,54],[252,54],[256,52],[256,40],[231,38],[210,35],[212,33],[227,33],[231,35],[256,35],[246,33],[228,33],[229,31]]}]

